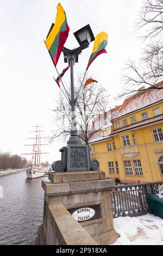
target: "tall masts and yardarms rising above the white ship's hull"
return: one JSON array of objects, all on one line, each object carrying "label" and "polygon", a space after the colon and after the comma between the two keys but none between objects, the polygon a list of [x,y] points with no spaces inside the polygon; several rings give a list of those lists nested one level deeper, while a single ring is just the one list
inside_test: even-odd
[{"label": "tall masts and yardarms rising above the white ship's hull", "polygon": [[36,127],[36,131],[29,131],[29,132],[35,132],[35,137],[34,138],[27,138],[27,139],[35,139],[34,144],[26,144],[24,146],[33,146],[33,153],[26,153],[26,154],[21,154],[21,155],[33,155],[32,157],[32,163],[34,160],[34,166],[39,167],[40,166],[40,156],[41,154],[49,154],[48,152],[41,153],[41,145],[48,145],[48,144],[41,144],[41,139],[46,138],[46,137],[41,137],[41,131],[40,129],[38,130],[38,127],[44,127],[44,126],[39,126],[38,124],[32,125],[30,127]]}]

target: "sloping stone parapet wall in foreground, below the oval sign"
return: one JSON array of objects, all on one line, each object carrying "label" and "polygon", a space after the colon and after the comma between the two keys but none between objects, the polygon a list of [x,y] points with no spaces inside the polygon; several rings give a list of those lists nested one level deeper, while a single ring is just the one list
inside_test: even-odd
[{"label": "sloping stone parapet wall in foreground, below the oval sign", "polygon": [[39,228],[37,245],[97,245],[63,205],[48,206],[46,237]]}]

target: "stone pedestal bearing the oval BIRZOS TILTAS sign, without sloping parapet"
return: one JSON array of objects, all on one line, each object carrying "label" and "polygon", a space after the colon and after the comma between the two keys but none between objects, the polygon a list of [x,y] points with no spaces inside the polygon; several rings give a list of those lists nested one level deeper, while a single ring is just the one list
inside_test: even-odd
[{"label": "stone pedestal bearing the oval BIRZOS TILTAS sign, without sloping parapet", "polygon": [[49,180],[42,181],[45,205],[41,227],[45,240],[48,208],[59,205],[72,214],[98,245],[117,240],[120,235],[114,230],[110,193],[114,180],[106,179],[100,171],[50,173]]}]

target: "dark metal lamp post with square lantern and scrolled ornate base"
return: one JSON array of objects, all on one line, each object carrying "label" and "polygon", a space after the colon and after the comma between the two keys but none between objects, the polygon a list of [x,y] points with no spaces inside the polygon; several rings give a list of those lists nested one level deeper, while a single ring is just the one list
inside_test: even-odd
[{"label": "dark metal lamp post with square lantern and scrolled ornate base", "polygon": [[[97,170],[99,163],[97,160],[90,160],[89,146],[83,144],[78,137],[77,123],[76,123],[76,102],[77,98],[74,93],[74,72],[73,66],[78,63],[78,56],[82,50],[89,47],[91,41],[95,40],[90,25],[86,25],[74,32],[74,36],[79,42],[79,47],[70,50],[63,48],[64,62],[70,65],[71,72],[71,132],[70,138],[67,141],[66,147],[60,149],[61,161],[55,161],[52,164],[55,172],[74,172],[82,170]],[[83,78],[84,81],[84,78]]]}]

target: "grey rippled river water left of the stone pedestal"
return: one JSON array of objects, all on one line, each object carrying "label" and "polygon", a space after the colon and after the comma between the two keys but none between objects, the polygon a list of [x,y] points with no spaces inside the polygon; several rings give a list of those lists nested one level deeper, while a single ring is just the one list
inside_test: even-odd
[{"label": "grey rippled river water left of the stone pedestal", "polygon": [[43,217],[42,180],[48,177],[29,180],[26,172],[0,177],[0,245],[35,244]]}]

